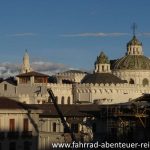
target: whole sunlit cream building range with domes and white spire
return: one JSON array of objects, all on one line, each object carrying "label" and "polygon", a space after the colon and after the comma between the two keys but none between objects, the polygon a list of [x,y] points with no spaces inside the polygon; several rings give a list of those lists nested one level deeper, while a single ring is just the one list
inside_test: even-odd
[{"label": "whole sunlit cream building range with domes and white spire", "polygon": [[58,104],[114,104],[150,93],[150,59],[144,56],[142,43],[135,35],[127,43],[124,57],[110,61],[101,52],[93,73],[69,70],[49,77],[33,71],[29,62],[26,51],[22,73],[0,81],[0,96],[42,104],[48,101],[47,89],[51,88]]}]

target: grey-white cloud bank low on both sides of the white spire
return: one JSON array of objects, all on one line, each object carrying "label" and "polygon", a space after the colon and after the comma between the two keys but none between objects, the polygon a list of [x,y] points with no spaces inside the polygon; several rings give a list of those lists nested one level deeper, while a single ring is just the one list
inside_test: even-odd
[{"label": "grey-white cloud bank low on both sides of the white spire", "polygon": [[[48,75],[53,75],[58,72],[69,70],[69,66],[59,63],[34,61],[31,63],[31,67],[34,71],[41,72]],[[20,73],[21,64],[4,62],[0,63],[0,77],[7,78],[10,76],[16,76]]]}]

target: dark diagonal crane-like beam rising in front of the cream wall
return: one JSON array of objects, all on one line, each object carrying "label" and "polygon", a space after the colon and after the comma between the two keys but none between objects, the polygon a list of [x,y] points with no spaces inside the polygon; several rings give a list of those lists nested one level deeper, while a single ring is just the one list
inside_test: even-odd
[{"label": "dark diagonal crane-like beam rising in front of the cream wall", "polygon": [[59,108],[59,106],[56,102],[56,97],[54,96],[54,93],[53,93],[52,89],[49,88],[49,89],[47,89],[47,91],[49,93],[49,102],[50,102],[50,100],[52,100],[52,102],[54,104],[54,107],[55,107],[55,109],[56,109],[56,111],[57,111],[57,113],[58,113],[58,115],[61,119],[61,122],[62,122],[63,126],[64,126],[64,129],[66,129],[66,131],[68,133],[70,133],[72,141],[76,142],[77,141],[76,137],[75,137],[74,133],[72,132],[72,130],[70,129],[70,127],[68,126],[68,124],[67,124],[67,122],[66,122],[66,120],[63,116],[63,113],[61,112],[61,110],[60,110],[60,108]]}]

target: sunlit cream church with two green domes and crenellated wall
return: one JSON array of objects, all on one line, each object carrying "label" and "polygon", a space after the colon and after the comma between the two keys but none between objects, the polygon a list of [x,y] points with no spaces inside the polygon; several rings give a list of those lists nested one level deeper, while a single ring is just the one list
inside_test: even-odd
[{"label": "sunlit cream church with two green domes and crenellated wall", "polygon": [[97,57],[93,74],[74,85],[76,102],[123,103],[150,93],[150,59],[143,55],[135,35],[127,44],[126,55],[111,62],[103,52]]}]

